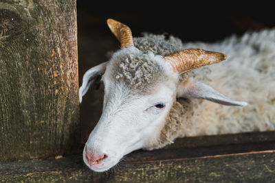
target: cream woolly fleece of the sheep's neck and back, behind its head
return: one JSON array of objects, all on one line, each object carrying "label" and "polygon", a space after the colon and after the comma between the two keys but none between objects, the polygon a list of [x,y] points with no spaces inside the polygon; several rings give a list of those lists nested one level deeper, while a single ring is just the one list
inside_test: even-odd
[{"label": "cream woolly fleece of the sheep's neck and back, behind its head", "polygon": [[177,137],[275,130],[275,29],[214,43],[182,43],[173,36],[166,39],[146,34],[134,38],[134,44],[142,51],[161,56],[189,48],[225,53],[227,60],[189,71],[182,77],[194,77],[230,99],[249,103],[233,107],[201,99],[177,99],[155,148]]}]

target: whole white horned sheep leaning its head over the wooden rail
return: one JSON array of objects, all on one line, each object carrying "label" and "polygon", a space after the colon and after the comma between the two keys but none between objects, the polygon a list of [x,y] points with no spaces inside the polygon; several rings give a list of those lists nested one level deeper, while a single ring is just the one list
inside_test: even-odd
[{"label": "whole white horned sheep leaning its head over the wooden rail", "polygon": [[173,36],[133,38],[128,26],[107,24],[121,49],[89,69],[79,88],[81,103],[102,75],[102,116],[83,149],[89,169],[107,171],[131,151],[184,136],[275,129],[275,29],[183,44]]}]

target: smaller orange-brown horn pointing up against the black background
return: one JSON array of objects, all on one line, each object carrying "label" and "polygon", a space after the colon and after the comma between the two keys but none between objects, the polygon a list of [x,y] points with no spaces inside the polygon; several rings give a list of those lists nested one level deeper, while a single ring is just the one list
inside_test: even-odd
[{"label": "smaller orange-brown horn pointing up against the black background", "polygon": [[111,32],[113,32],[113,34],[115,34],[115,37],[118,38],[118,40],[120,41],[120,45],[122,48],[133,46],[132,32],[127,25],[124,25],[123,23],[120,23],[113,19],[108,19],[107,24],[111,29]]}]

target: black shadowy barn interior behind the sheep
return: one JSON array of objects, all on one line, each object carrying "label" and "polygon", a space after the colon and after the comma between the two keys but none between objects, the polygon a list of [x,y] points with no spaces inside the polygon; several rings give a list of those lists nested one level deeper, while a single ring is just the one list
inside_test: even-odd
[{"label": "black shadowy barn interior behind the sheep", "polygon": [[[168,34],[183,42],[214,42],[232,34],[275,27],[275,8],[266,1],[77,1],[79,83],[89,68],[108,60],[120,44],[107,19],[128,25],[133,36],[142,32]],[[92,88],[80,106],[80,130],[85,143],[102,111],[103,86]]]}]

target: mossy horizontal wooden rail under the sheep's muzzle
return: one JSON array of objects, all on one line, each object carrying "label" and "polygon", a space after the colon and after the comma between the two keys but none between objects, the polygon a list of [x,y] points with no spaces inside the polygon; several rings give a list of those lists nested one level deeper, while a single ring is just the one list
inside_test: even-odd
[{"label": "mossy horizontal wooden rail under the sheep's muzzle", "polygon": [[265,142],[135,151],[104,173],[88,169],[82,154],[5,162],[0,182],[274,182],[274,149]]}]

